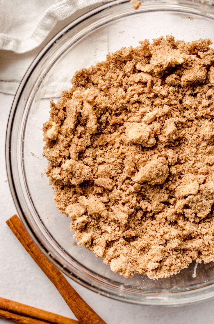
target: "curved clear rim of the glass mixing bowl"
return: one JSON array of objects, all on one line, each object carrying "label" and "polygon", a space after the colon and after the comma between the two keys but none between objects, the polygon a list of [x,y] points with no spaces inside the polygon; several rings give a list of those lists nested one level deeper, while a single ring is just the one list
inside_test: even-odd
[{"label": "curved clear rim of the glass mixing bowl", "polygon": [[[146,0],[145,2],[148,2],[148,0]],[[150,3],[173,3],[175,4],[175,1],[164,1],[164,0],[159,0],[159,1],[150,1]],[[181,1],[182,2],[182,1]],[[184,2],[184,1],[183,1]],[[189,2],[187,0],[187,2]],[[37,64],[40,62],[40,60],[45,56],[45,54],[49,51],[49,49],[53,46],[53,44],[64,34],[66,34],[70,29],[74,28],[76,25],[80,24],[81,22],[83,22],[84,20],[87,20],[89,17],[92,17],[93,15],[96,15],[100,12],[102,12],[103,10],[105,10],[108,7],[113,7],[113,6],[117,6],[119,4],[122,3],[129,3],[129,0],[115,0],[115,1],[111,1],[108,3],[105,3],[104,5],[100,5],[98,7],[96,7],[95,9],[92,9],[90,11],[88,11],[87,13],[85,13],[84,15],[78,17],[77,19],[75,19],[74,21],[72,21],[71,23],[69,23],[66,27],[64,27],[63,29],[61,29],[44,47],[43,49],[37,54],[36,58],[33,60],[33,62],[30,64],[30,66],[28,67],[25,75],[23,76],[20,85],[16,91],[16,95],[14,97],[13,103],[12,103],[12,107],[10,110],[10,114],[9,114],[9,118],[8,118],[8,123],[7,123],[7,129],[6,129],[6,140],[5,140],[5,158],[6,158],[6,170],[7,170],[7,177],[8,177],[8,183],[9,183],[9,187],[10,187],[10,191],[12,194],[12,198],[13,201],[15,203],[17,212],[28,232],[28,234],[30,235],[30,237],[32,238],[32,240],[34,241],[34,243],[37,245],[37,247],[40,249],[40,251],[48,258],[49,261],[51,261],[51,263],[53,263],[61,272],[63,272],[64,274],[66,274],[67,276],[69,276],[70,278],[72,278],[74,281],[76,281],[77,283],[81,284],[82,286],[97,292],[101,295],[107,296],[107,297],[111,297],[113,299],[116,300],[120,300],[120,301],[126,301],[129,303],[134,303],[134,304],[141,304],[141,305],[182,305],[182,304],[186,304],[186,303],[191,303],[191,302],[195,302],[198,300],[203,300],[203,299],[207,299],[209,297],[212,297],[214,295],[214,280],[207,282],[206,284],[203,284],[203,286],[200,287],[194,287],[192,286],[190,290],[181,290],[181,291],[167,291],[164,292],[162,291],[161,293],[158,292],[158,296],[159,298],[157,298],[157,292],[155,293],[149,293],[149,292],[143,292],[142,291],[142,297],[143,295],[147,295],[147,299],[137,299],[137,298],[130,298],[130,297],[126,297],[126,296],[121,296],[118,295],[116,293],[113,293],[112,291],[106,291],[106,290],[102,290],[101,288],[90,284],[89,282],[83,280],[82,278],[78,277],[77,275],[75,275],[74,273],[71,273],[70,275],[68,274],[68,272],[66,271],[66,268],[62,267],[60,262],[58,260],[56,260],[55,258],[53,258],[50,253],[48,252],[48,249],[46,249],[46,247],[44,246],[44,244],[39,240],[39,238],[36,236],[35,232],[33,231],[32,227],[30,226],[27,218],[25,217],[25,214],[23,212],[22,209],[22,205],[20,203],[19,197],[18,197],[18,193],[16,190],[16,181],[14,180],[14,176],[13,176],[13,167],[12,167],[12,163],[11,163],[11,141],[12,141],[12,134],[13,134],[13,124],[14,124],[14,119],[15,119],[15,115],[16,115],[16,111],[18,109],[18,104],[19,104],[19,99],[22,96],[22,93],[24,91],[24,88],[27,86],[27,82],[28,79],[30,78],[30,75],[32,74],[32,72],[34,71],[34,69],[36,68]],[[179,0],[177,1],[177,3],[179,3]],[[209,4],[213,3],[214,1],[211,0],[209,1]],[[143,3],[144,4],[144,3]],[[84,266],[83,266],[84,267]],[[101,276],[102,277],[102,276]],[[198,296],[198,293],[194,293],[194,292],[198,292],[200,291],[200,296]],[[167,295],[177,295],[178,298],[175,299],[167,299],[167,298],[163,298],[162,295],[165,295],[165,297],[167,297]],[[185,296],[183,296],[183,294],[185,294]],[[148,298],[148,295],[150,295],[150,298]],[[180,298],[179,299],[179,296]]]}]

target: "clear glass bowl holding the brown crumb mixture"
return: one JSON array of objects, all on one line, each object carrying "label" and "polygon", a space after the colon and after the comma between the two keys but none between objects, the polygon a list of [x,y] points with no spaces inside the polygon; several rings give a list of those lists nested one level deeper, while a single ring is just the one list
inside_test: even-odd
[{"label": "clear glass bowl holding the brown crumb mixture", "polygon": [[[76,70],[105,59],[108,52],[138,41],[172,34],[176,39],[214,41],[214,1],[113,1],[76,19],[38,54],[14,99],[6,135],[8,179],[19,216],[42,252],[62,272],[108,297],[144,305],[181,305],[214,295],[213,264],[191,264],[170,278],[151,280],[136,274],[125,279],[83,246],[72,244],[70,219],[53,201],[43,176],[43,122],[49,99],[71,87]],[[198,266],[198,268],[197,268]]]}]

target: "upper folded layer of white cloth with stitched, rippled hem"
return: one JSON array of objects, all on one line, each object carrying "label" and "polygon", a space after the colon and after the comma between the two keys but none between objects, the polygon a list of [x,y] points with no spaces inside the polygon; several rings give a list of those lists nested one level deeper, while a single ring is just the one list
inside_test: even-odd
[{"label": "upper folded layer of white cloth with stitched, rippled hem", "polygon": [[99,0],[0,1],[0,49],[26,53],[37,48],[56,23]]}]

